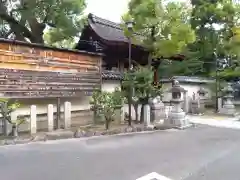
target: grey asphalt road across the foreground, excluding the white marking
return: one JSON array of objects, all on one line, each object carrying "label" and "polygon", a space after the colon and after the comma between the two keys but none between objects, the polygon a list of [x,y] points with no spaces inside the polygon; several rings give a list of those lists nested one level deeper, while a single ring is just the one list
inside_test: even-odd
[{"label": "grey asphalt road across the foreground, excluding the white marking", "polygon": [[239,180],[240,130],[200,126],[0,147],[1,180]]}]

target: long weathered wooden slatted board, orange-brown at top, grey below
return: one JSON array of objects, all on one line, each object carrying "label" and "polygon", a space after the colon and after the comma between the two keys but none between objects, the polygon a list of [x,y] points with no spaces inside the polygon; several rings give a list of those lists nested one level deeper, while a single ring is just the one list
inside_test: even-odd
[{"label": "long weathered wooden slatted board, orange-brown at top, grey below", "polygon": [[0,96],[69,97],[101,85],[101,57],[0,42]]}]

